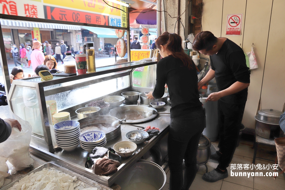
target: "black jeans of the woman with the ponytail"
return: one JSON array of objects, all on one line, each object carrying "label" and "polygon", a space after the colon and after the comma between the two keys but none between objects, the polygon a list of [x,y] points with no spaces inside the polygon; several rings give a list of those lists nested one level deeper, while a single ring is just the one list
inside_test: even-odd
[{"label": "black jeans of the woman with the ponytail", "polygon": [[[205,128],[203,108],[170,120],[168,164],[170,190],[189,189],[196,176],[196,154],[201,133]],[[183,181],[182,163],[185,162]]]}]

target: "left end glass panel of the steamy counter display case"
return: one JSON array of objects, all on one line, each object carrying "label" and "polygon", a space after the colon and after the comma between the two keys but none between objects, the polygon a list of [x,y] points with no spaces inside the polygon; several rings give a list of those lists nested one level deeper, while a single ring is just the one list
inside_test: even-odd
[{"label": "left end glass panel of the steamy counter display case", "polygon": [[44,136],[40,108],[36,88],[15,86],[11,98],[13,112],[21,119],[30,122],[32,133],[37,136]]}]

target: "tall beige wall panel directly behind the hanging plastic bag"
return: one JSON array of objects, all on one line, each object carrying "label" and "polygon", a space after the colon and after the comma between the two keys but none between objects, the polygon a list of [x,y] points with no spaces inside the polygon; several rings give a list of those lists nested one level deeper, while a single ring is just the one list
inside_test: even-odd
[{"label": "tall beige wall panel directly behind the hanging plastic bag", "polygon": [[265,63],[267,38],[270,23],[272,0],[247,0],[247,10],[244,26],[243,50],[251,51],[252,43],[255,44],[255,55],[258,69],[251,70],[251,83],[248,90],[243,124],[247,128],[255,128],[254,116],[257,113],[262,85],[262,77]]}]

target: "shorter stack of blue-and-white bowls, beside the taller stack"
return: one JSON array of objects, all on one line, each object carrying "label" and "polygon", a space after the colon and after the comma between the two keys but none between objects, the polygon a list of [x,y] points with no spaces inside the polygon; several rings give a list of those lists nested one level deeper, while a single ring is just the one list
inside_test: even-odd
[{"label": "shorter stack of blue-and-white bowls, beside the taller stack", "polygon": [[97,146],[102,147],[107,143],[105,133],[101,131],[87,131],[80,135],[81,148],[87,152],[92,152]]}]

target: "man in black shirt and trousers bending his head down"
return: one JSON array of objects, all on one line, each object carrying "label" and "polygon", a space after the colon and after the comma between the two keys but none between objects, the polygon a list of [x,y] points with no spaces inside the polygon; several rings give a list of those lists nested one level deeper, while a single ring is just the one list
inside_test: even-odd
[{"label": "man in black shirt and trousers bending his head down", "polygon": [[243,50],[227,38],[216,38],[211,32],[198,33],[192,45],[194,50],[209,55],[211,69],[198,83],[198,89],[215,77],[219,92],[211,93],[206,101],[218,101],[219,165],[205,173],[203,179],[215,182],[228,177],[229,166],[237,145],[250,83],[250,70]]}]

